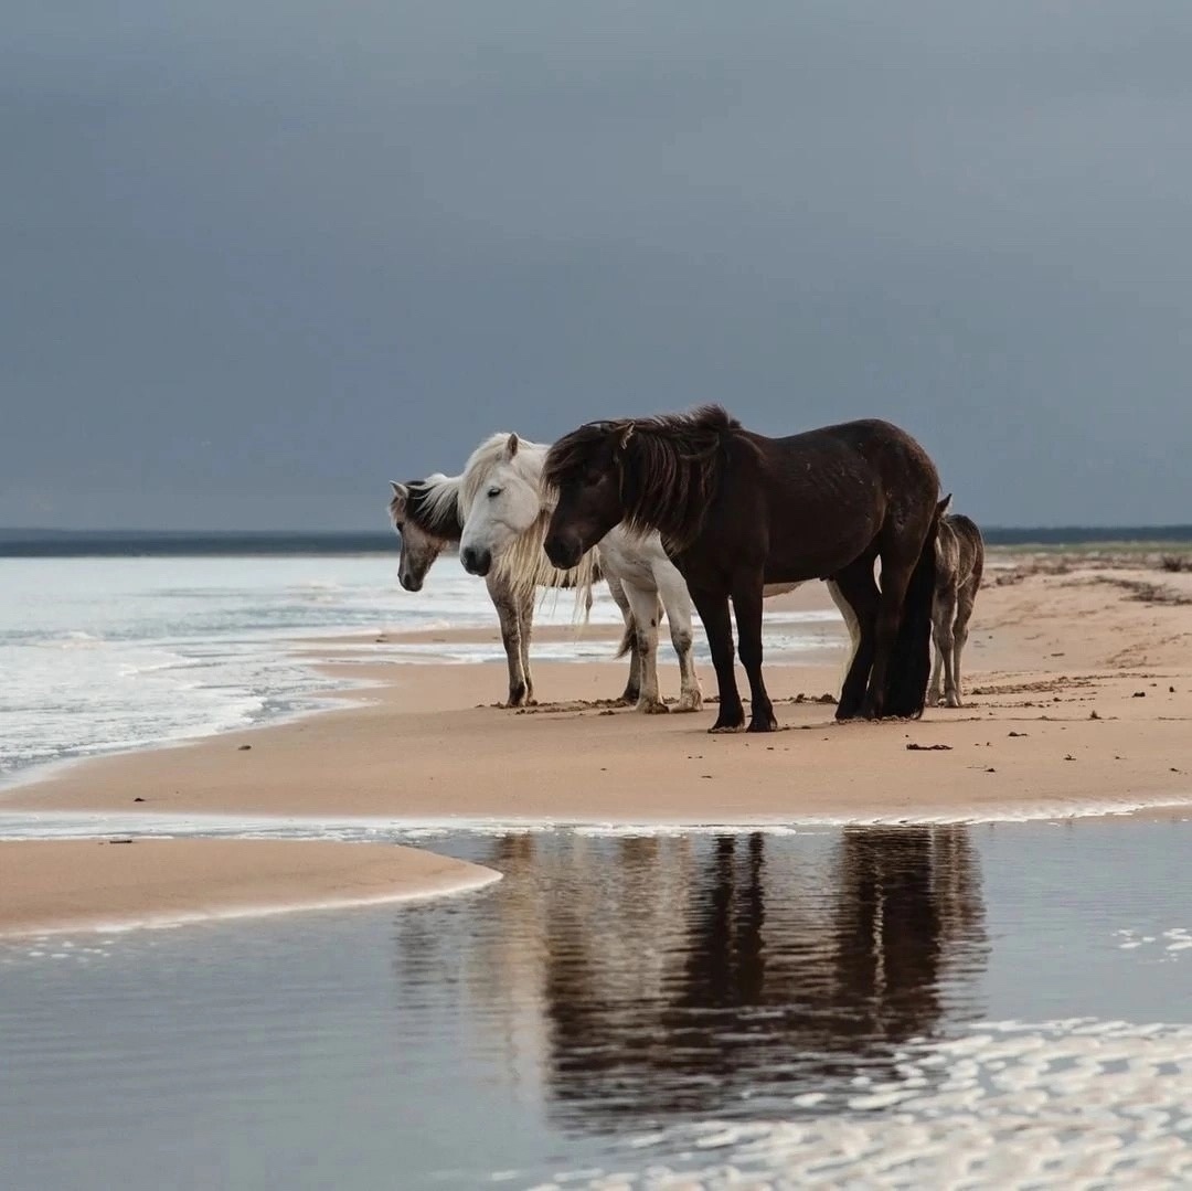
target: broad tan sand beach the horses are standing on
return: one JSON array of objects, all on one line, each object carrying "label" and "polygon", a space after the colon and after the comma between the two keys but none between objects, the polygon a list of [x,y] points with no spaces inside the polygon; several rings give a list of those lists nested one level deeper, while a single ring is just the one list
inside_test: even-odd
[{"label": "broad tan sand beach the horses are standing on", "polygon": [[[822,647],[809,664],[768,663],[781,731],[765,736],[709,736],[710,707],[645,717],[607,706],[602,701],[620,693],[626,674],[625,663],[611,660],[538,665],[539,697],[550,702],[497,708],[503,666],[395,664],[386,651],[401,634],[390,631],[383,643],[372,634],[304,646],[329,659],[323,664],[333,672],[381,684],[354,691],[342,709],[92,761],[10,789],[0,807],[694,824],[1014,818],[1192,805],[1192,575],[1073,569],[1055,560],[1007,569],[1002,560],[989,581],[966,657],[968,706],[931,708],[914,722],[837,725],[834,708],[813,701],[838,689],[845,645],[843,626],[834,624],[819,629]],[[1155,584],[1157,590],[1148,588]],[[811,584],[770,607],[831,604],[824,587]],[[608,638],[613,652],[615,633],[589,632]],[[435,631],[420,639],[451,641],[455,634]],[[677,666],[669,645],[660,674],[664,693],[673,694]],[[709,666],[701,666],[701,678],[714,696]],[[192,870],[197,895],[221,883],[217,849],[234,845],[173,846],[211,857],[209,881],[201,877],[207,861]],[[325,846],[350,857],[360,850]],[[139,856],[141,849],[108,851]],[[24,871],[32,874],[41,862],[29,857]],[[298,868],[290,870],[290,886],[277,887],[279,897],[305,888]],[[93,871],[103,879],[100,868]],[[312,870],[311,881],[319,880]],[[144,905],[159,899],[151,881],[138,888]]]}]

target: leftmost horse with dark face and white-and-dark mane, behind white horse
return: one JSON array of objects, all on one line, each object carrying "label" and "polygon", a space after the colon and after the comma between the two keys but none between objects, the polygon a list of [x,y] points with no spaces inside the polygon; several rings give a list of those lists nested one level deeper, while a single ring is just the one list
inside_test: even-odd
[{"label": "leftmost horse with dark face and white-and-dark mane, behind white horse", "polygon": [[[393,496],[389,502],[389,517],[402,539],[402,556],[398,562],[398,579],[406,591],[421,591],[435,559],[448,547],[459,542],[462,525],[459,517],[460,476],[436,472],[426,479],[405,484],[392,483]],[[545,558],[545,556],[544,556]],[[546,588],[575,587],[577,603],[591,608],[591,584],[595,563],[589,560],[576,571],[544,569],[538,577]],[[509,707],[523,707],[534,702],[534,677],[529,665],[529,645],[534,626],[535,587],[511,582],[505,567],[493,569],[486,577],[489,597],[501,622],[501,640],[505,649],[509,668]],[[632,613],[620,584],[609,582],[609,591],[621,609],[628,632]],[[629,682],[622,697],[638,697],[638,659],[629,663]]]}]

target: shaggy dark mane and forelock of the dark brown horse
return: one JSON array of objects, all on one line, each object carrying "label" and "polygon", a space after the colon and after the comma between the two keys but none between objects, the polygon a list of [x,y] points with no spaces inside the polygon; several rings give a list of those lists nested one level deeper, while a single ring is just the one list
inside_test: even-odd
[{"label": "shaggy dark mane and forelock of the dark brown horse", "polygon": [[725,440],[740,422],[720,405],[687,414],[589,422],[551,447],[542,471],[550,488],[582,474],[602,455],[621,472],[625,526],[657,529],[671,548],[695,538],[720,485]]}]

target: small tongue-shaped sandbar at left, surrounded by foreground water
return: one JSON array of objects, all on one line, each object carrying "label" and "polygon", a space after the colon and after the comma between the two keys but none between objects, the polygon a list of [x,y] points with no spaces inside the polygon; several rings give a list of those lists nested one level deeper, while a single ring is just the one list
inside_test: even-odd
[{"label": "small tongue-shaped sandbar at left, surrounded by foreground water", "polygon": [[0,842],[0,937],[402,901],[497,879],[416,848],[305,840]]}]

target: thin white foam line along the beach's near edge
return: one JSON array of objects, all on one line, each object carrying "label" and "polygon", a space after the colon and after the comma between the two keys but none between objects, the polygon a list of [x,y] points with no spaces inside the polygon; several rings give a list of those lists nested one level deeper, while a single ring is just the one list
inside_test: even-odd
[{"label": "thin white foam line along the beach's near edge", "polygon": [[0,840],[101,839],[136,835],[147,838],[210,836],[218,838],[429,839],[447,835],[495,836],[526,832],[575,832],[585,836],[794,835],[839,827],[980,826],[998,823],[1063,823],[1110,818],[1140,811],[1180,809],[1192,815],[1192,799],[1135,799],[1105,802],[1039,802],[981,811],[936,811],[926,814],[739,815],[733,819],[607,819],[519,815],[231,815],[218,813],[155,814],[153,812],[0,811]]}]

